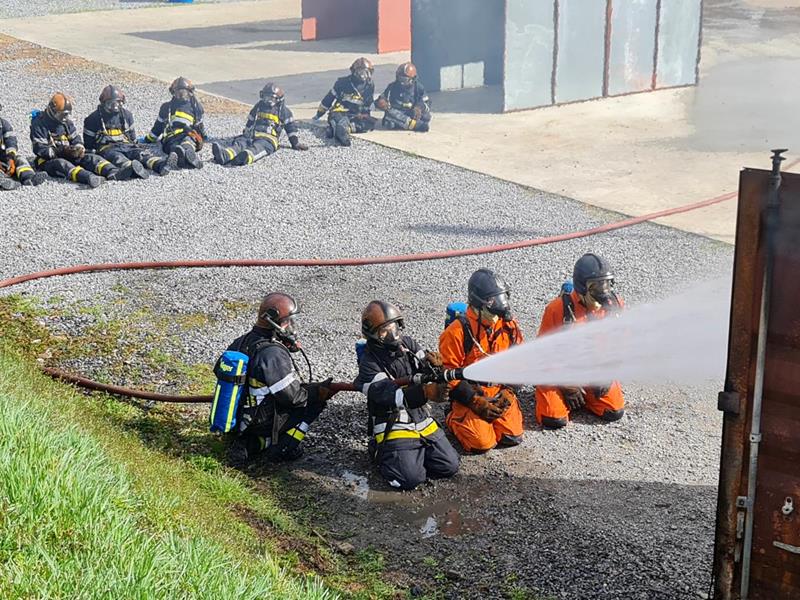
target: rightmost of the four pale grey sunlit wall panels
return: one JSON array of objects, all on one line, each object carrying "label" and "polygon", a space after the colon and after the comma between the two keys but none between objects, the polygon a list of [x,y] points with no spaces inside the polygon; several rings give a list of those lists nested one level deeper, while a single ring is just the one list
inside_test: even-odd
[{"label": "rightmost of the four pale grey sunlit wall panels", "polygon": [[697,83],[701,0],[661,0],[656,87]]}]

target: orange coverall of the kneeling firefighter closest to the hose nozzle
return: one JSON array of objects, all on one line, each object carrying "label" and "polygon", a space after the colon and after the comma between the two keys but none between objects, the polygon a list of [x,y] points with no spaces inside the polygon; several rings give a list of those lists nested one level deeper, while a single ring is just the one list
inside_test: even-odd
[{"label": "orange coverall of the kneeling firefighter closest to the hose nozzle", "polygon": [[[467,309],[466,316],[470,330],[479,342],[480,348],[478,344],[473,344],[469,353],[464,355],[465,332],[461,322],[456,319],[439,336],[439,352],[447,369],[466,367],[485,358],[487,354],[496,354],[507,350],[511,347],[512,342],[522,343],[522,332],[516,321],[498,319],[492,325],[487,338],[487,328],[484,325],[478,327],[479,317],[472,307]],[[481,348],[483,352],[481,352]],[[459,383],[459,381],[451,382],[450,388],[456,387]],[[484,396],[492,397],[500,392],[501,387],[481,386],[481,389]],[[471,408],[453,401],[450,403],[450,413],[447,415],[447,427],[458,438],[465,451],[491,450],[504,435],[511,437],[522,435],[522,411],[520,411],[519,401],[514,395],[511,406],[508,407],[505,414],[489,423],[479,417]]]}]

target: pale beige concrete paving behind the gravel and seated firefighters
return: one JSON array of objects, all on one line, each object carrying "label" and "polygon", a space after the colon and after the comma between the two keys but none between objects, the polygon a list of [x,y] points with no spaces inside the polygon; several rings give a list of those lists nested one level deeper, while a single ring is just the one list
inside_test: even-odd
[{"label": "pale beige concrete paving behind the gravel and seated firefighters", "polygon": [[[2,30],[43,46],[251,104],[275,80],[310,117],[356,57],[376,62],[378,88],[407,53],[375,40],[299,41],[299,0],[13,19]],[[498,90],[437,94],[433,131],[365,137],[468,169],[640,215],[733,191],[743,166],[800,143],[800,0],[707,0],[700,85],[498,114]],[[492,112],[494,111],[494,112]],[[454,190],[480,202],[469,190]],[[663,220],[733,242],[735,202]]]}]

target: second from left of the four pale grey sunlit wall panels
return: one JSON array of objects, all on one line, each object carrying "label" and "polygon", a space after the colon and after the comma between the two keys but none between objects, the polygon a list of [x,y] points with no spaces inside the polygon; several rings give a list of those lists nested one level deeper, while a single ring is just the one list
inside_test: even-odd
[{"label": "second from left of the four pale grey sunlit wall panels", "polygon": [[603,95],[606,3],[560,0],[556,102]]}]

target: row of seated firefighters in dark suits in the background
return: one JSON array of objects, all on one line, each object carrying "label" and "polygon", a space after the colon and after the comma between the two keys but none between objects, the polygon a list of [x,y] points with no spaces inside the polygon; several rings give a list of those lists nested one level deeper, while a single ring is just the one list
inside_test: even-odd
[{"label": "row of seated firefighters in dark suits in the background", "polygon": [[[359,58],[350,67],[350,75],[337,79],[322,99],[314,120],[328,113],[327,135],[334,143],[349,146],[351,133],[374,129],[373,104],[384,111],[386,129],[428,131],[430,100],[417,80],[416,67],[410,62],[400,65],[395,81],[377,99],[373,72],[372,62]],[[0,190],[39,185],[48,175],[96,188],[105,180],[147,179],[150,171],[166,175],[175,169],[202,168],[198,152],[207,139],[203,105],[185,77],[173,81],[169,91],[172,98],[161,105],[150,132],[137,137],[125,94],[116,86],[106,86],[97,110],[83,122],[82,139],[72,120],[72,99],[56,92],[45,110],[31,113],[32,165],[19,154],[14,130],[0,116]],[[217,164],[249,165],[269,156],[278,149],[284,130],[293,149],[308,150],[300,142],[284,91],[267,83],[259,95],[242,134],[212,143]]]}]

